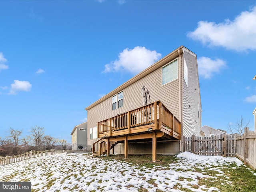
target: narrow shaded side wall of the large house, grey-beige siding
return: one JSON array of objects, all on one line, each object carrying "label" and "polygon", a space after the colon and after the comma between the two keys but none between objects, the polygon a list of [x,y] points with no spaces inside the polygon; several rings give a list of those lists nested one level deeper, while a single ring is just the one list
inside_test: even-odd
[{"label": "narrow shaded side wall of the large house, grey-beige siding", "polygon": [[[188,86],[184,80],[184,59],[188,66]],[[182,127],[185,136],[192,136],[192,134],[201,136],[201,112],[198,118],[198,104],[201,109],[196,56],[184,50],[182,57]]]}]

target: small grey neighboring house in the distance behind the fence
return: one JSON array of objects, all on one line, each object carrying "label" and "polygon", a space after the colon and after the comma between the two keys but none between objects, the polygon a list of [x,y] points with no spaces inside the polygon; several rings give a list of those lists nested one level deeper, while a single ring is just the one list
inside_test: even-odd
[{"label": "small grey neighboring house in the distance behind the fence", "polygon": [[76,125],[71,136],[72,150],[87,150],[87,122]]}]

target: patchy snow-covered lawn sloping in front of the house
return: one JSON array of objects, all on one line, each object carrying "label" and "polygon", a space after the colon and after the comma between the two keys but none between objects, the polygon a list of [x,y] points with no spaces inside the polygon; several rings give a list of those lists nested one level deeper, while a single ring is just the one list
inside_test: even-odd
[{"label": "patchy snow-covered lawn sloping in front of the house", "polygon": [[[199,178],[218,179],[218,176],[224,176],[223,167],[234,163],[243,166],[235,157],[197,156],[183,152],[178,158],[178,162],[171,163],[168,167],[156,165],[150,169],[117,160],[94,158],[91,154],[58,154],[0,166],[0,181],[32,182],[32,189],[36,192],[120,192],[143,188],[149,192],[181,191],[179,188],[211,192],[219,190],[198,186]],[[197,172],[196,168],[214,170],[219,174],[210,176]],[[228,177],[223,180],[224,185],[230,183]]]}]

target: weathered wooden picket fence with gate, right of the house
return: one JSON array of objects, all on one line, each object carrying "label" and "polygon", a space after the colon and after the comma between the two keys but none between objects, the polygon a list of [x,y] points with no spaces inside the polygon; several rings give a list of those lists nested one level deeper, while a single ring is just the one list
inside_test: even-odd
[{"label": "weathered wooden picket fence with gate, right of the house", "polygon": [[236,156],[256,169],[256,132],[244,128],[242,136],[222,134],[214,137],[183,136],[184,151],[198,155]]}]

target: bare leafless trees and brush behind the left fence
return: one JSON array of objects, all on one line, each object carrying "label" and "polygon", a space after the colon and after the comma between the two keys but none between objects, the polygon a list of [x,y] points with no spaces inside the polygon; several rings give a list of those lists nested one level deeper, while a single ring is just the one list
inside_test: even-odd
[{"label": "bare leafless trees and brush behind the left fence", "polygon": [[31,128],[30,135],[21,138],[23,130],[10,127],[9,136],[0,138],[0,156],[17,155],[31,150],[66,149],[66,140],[45,135],[44,131],[44,127],[36,125]]}]

